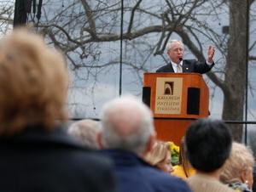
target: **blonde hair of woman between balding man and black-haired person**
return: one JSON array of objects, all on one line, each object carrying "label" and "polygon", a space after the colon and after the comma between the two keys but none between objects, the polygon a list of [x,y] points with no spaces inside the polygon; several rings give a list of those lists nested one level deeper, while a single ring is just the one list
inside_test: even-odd
[{"label": "blonde hair of woman between balding man and black-haired person", "polygon": [[150,165],[157,166],[161,161],[164,161],[166,159],[168,151],[169,144],[162,141],[156,141],[154,143],[153,149],[148,152],[144,159]]}]

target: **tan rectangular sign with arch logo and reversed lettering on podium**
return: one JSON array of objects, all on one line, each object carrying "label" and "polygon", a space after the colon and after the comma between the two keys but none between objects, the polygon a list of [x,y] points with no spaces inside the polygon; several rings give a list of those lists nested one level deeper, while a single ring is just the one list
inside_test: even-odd
[{"label": "tan rectangular sign with arch logo and reversed lettering on podium", "polygon": [[156,78],[154,114],[181,114],[183,78]]}]

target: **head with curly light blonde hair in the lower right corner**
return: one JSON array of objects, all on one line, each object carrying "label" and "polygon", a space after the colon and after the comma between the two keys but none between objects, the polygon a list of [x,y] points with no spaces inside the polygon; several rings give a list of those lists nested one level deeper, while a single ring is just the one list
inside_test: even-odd
[{"label": "head with curly light blonde hair in the lower right corner", "polygon": [[253,151],[244,144],[233,142],[230,157],[224,164],[220,180],[224,184],[240,182],[253,187]]}]

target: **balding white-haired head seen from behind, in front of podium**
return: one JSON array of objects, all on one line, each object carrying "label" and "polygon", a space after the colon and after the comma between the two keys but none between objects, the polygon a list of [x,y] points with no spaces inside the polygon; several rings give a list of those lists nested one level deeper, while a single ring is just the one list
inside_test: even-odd
[{"label": "balding white-haired head seen from behind, in front of podium", "polygon": [[102,108],[100,143],[105,149],[129,150],[143,156],[154,144],[151,111],[131,96],[113,99]]}]

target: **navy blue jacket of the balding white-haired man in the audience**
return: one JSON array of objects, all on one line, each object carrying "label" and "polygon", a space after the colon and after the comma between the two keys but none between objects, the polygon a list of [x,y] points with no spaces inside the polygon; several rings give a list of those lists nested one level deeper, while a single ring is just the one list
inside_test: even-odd
[{"label": "navy blue jacket of the balding white-haired man in the audience", "polygon": [[191,192],[180,178],[150,166],[125,150],[104,150],[114,162],[120,192]]}]

